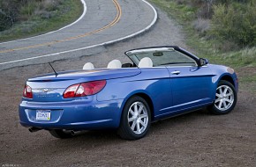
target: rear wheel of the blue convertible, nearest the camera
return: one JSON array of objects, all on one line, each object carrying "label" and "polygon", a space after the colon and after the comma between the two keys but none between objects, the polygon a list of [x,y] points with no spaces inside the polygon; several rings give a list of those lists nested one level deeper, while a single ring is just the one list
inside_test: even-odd
[{"label": "rear wheel of the blue convertible, nearest the camera", "polygon": [[127,140],[138,140],[144,137],[151,124],[151,113],[147,101],[135,96],[124,105],[118,134]]}]

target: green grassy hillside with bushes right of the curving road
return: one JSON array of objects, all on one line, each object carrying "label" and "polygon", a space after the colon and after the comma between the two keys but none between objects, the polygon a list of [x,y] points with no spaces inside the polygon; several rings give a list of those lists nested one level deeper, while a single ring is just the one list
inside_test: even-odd
[{"label": "green grassy hillside with bushes right of the curving road", "polygon": [[151,2],[183,25],[188,46],[200,57],[243,73],[240,84],[256,92],[256,0]]}]

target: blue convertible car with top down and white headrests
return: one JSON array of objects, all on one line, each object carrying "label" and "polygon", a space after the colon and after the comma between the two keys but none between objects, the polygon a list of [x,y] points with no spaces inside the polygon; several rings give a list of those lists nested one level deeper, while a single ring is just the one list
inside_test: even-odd
[{"label": "blue convertible car with top down and white headrests", "polygon": [[153,121],[202,107],[230,113],[237,103],[237,75],[229,67],[174,46],[125,54],[132,63],[114,60],[106,69],[94,69],[88,62],[82,70],[28,79],[19,105],[21,125],[57,138],[116,128],[122,138],[135,140]]}]

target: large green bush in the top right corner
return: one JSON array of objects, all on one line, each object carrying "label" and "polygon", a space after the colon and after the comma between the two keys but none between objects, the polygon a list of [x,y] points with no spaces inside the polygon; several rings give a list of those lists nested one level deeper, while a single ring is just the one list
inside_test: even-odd
[{"label": "large green bush in the top right corner", "polygon": [[218,40],[230,40],[242,47],[256,45],[256,10],[248,4],[214,5],[211,34]]}]

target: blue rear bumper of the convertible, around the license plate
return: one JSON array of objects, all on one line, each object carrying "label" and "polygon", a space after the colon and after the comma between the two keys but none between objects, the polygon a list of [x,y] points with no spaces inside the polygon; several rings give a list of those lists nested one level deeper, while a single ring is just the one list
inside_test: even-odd
[{"label": "blue rear bumper of the convertible, around the license plate", "polygon": [[[87,130],[117,128],[123,100],[99,102],[79,99],[69,102],[29,102],[19,105],[20,124],[43,129]],[[50,120],[36,120],[38,110],[50,112]]]}]

